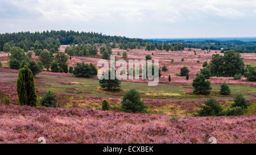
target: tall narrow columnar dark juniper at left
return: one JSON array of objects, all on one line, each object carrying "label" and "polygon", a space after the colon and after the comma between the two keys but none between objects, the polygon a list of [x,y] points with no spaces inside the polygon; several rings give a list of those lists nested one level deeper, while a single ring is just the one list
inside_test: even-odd
[{"label": "tall narrow columnar dark juniper at left", "polygon": [[19,76],[17,79],[17,93],[20,104],[36,106],[34,76],[26,65],[24,68],[19,70]]}]

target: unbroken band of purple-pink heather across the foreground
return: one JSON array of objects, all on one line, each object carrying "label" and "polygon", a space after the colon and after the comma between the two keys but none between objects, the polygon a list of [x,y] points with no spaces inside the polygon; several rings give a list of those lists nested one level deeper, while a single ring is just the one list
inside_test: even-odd
[{"label": "unbroken band of purple-pink heather across the foreground", "polygon": [[0,106],[0,143],[256,143],[256,115],[189,117]]}]

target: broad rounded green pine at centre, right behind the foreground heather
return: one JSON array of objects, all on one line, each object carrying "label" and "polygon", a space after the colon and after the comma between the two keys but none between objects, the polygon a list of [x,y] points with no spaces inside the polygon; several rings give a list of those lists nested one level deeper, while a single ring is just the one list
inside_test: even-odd
[{"label": "broad rounded green pine at centre, right behind the foreground heather", "polygon": [[123,112],[146,112],[144,108],[147,106],[141,101],[139,91],[130,89],[123,95],[121,111]]}]

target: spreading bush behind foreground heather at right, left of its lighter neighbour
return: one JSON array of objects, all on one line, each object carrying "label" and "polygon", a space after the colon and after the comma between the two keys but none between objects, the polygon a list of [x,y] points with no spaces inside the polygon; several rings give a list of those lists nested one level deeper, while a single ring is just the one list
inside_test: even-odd
[{"label": "spreading bush behind foreground heather at right, left of its lighter neighbour", "polygon": [[215,99],[210,98],[205,101],[205,104],[200,106],[200,110],[197,110],[196,116],[217,116],[222,111],[220,103]]}]

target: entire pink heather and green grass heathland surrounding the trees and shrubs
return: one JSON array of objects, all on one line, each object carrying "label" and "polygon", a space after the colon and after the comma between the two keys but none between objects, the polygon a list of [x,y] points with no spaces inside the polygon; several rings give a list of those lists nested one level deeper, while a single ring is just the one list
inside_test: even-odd
[{"label": "entire pink heather and green grass heathland surrounding the trees and shrubs", "polygon": [[[65,47],[61,45],[60,51]],[[98,47],[100,48],[100,47]],[[112,49],[116,59],[119,51]],[[193,51],[196,51],[194,55]],[[56,94],[59,108],[19,106],[16,93],[18,70],[10,69],[8,53],[0,53],[0,103],[5,97],[11,105],[0,106],[0,143],[38,143],[38,137],[46,137],[47,143],[208,143],[209,137],[216,137],[217,143],[256,143],[256,83],[245,77],[210,77],[212,90],[209,95],[193,94],[192,80],[203,68],[204,61],[220,51],[126,51],[127,59],[144,59],[151,55],[159,59],[160,67],[166,65],[158,86],[148,86],[147,80],[125,80],[121,91],[102,90],[97,77],[77,78],[71,73],[40,72],[35,76],[38,100],[42,94],[52,91]],[[152,55],[154,53],[154,55]],[[9,53],[10,54],[10,53]],[[200,57],[199,57],[200,55]],[[222,54],[221,54],[222,55]],[[241,53],[245,64],[256,65],[255,53]],[[97,65],[101,55],[92,57],[72,56],[68,66],[77,62],[92,62]],[[184,58],[184,61],[181,61]],[[38,56],[32,56],[38,61]],[[174,59],[174,62],[171,62]],[[199,60],[200,62],[197,62]],[[176,76],[180,68],[188,66],[189,79]],[[171,82],[168,75],[171,75]],[[220,95],[220,84],[228,83],[231,94]],[[147,114],[120,112],[123,95],[135,88],[147,105]],[[237,93],[243,94],[250,104],[241,116],[194,117],[201,104],[209,98],[228,108]],[[101,110],[103,99],[110,104],[109,111]],[[175,115],[177,119],[172,119]]]}]

